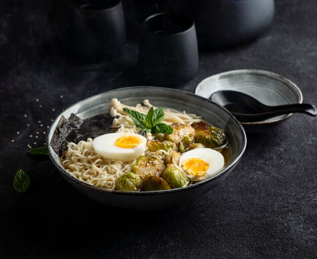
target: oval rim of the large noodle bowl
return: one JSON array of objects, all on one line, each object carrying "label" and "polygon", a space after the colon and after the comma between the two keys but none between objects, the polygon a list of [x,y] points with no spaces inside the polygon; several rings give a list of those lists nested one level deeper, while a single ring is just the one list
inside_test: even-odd
[{"label": "oval rim of the large noodle bowl", "polygon": [[[203,180],[201,182],[197,182],[197,183],[194,183],[192,185],[188,185],[186,187],[181,187],[181,188],[175,188],[175,189],[170,189],[170,190],[160,190],[160,191],[141,191],[141,192],[136,192],[136,191],[118,191],[118,190],[112,190],[112,189],[105,189],[105,188],[101,188],[101,187],[97,187],[97,186],[93,186],[93,185],[90,185],[88,183],[85,183],[75,177],[73,177],[72,175],[70,175],[54,158],[54,151],[53,151],[53,148],[50,146],[50,141],[51,139],[49,138],[49,136],[51,135],[51,132],[52,131],[55,131],[55,128],[53,128],[53,125],[58,123],[57,119],[60,118],[61,115],[63,115],[64,112],[66,112],[68,109],[76,106],[78,103],[81,103],[85,100],[88,100],[90,98],[96,98],[97,96],[99,95],[102,95],[102,94],[105,94],[105,93],[109,93],[109,92],[120,92],[122,90],[129,90],[129,89],[160,89],[162,91],[171,91],[171,92],[176,92],[176,93],[181,93],[181,94],[184,94],[184,95],[189,95],[189,96],[192,96],[194,98],[198,98],[198,99],[201,99],[203,101],[207,101],[208,103],[211,103],[212,105],[216,105],[218,106],[219,108],[221,108],[222,110],[224,110],[235,122],[236,124],[239,126],[240,128],[240,132],[242,134],[242,148],[239,150],[239,153],[238,155],[229,163],[229,165],[227,167],[225,167],[223,170],[221,170],[217,175],[211,177],[211,178],[208,178],[206,180]],[[61,113],[59,113],[57,115],[57,117],[54,119],[54,121],[52,122],[50,128],[49,128],[49,131],[48,131],[48,134],[47,134],[47,138],[46,138],[46,145],[48,148],[48,153],[49,153],[49,157],[50,159],[52,160],[53,164],[55,165],[55,167],[58,169],[58,171],[62,174],[62,176],[70,179],[72,182],[74,182],[75,184],[77,185],[80,185],[84,188],[87,188],[87,189],[91,189],[92,191],[96,191],[96,192],[102,192],[102,193],[107,193],[107,194],[121,194],[121,195],[148,195],[148,194],[168,194],[168,193],[172,193],[172,192],[179,192],[179,191],[184,191],[184,190],[189,190],[189,189],[192,189],[192,188],[196,188],[196,187],[199,187],[201,185],[204,185],[204,184],[207,184],[211,181],[214,181],[215,179],[225,175],[228,171],[231,170],[231,168],[233,169],[233,167],[237,164],[237,162],[240,161],[241,157],[243,156],[245,150],[246,150],[246,147],[247,147],[247,136],[246,136],[246,133],[244,131],[244,128],[242,127],[241,123],[225,108],[223,108],[222,106],[220,106],[219,104],[215,103],[215,102],[212,102],[211,100],[207,99],[207,98],[204,98],[202,96],[198,96],[198,95],[195,95],[193,93],[189,93],[189,92],[186,92],[186,91],[182,91],[182,90],[176,90],[176,89],[170,89],[170,88],[163,88],[163,87],[146,87],[146,86],[136,86],[136,87],[126,87],[126,88],[118,88],[118,89],[114,89],[114,90],[109,90],[109,91],[105,91],[105,92],[102,92],[102,93],[99,93],[99,94],[96,94],[96,95],[93,95],[93,96],[90,96],[88,98],[85,98],[83,100],[80,100],[78,102],[75,102],[74,104],[68,106],[67,108],[65,108]]]}]

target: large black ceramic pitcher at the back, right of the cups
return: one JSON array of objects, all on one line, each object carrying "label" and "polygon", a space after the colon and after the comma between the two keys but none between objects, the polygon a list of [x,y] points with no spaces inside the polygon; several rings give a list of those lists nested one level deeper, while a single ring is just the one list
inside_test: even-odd
[{"label": "large black ceramic pitcher at the back, right of the cups", "polygon": [[260,36],[274,16],[274,0],[170,0],[169,8],[195,22],[200,46],[237,45]]}]

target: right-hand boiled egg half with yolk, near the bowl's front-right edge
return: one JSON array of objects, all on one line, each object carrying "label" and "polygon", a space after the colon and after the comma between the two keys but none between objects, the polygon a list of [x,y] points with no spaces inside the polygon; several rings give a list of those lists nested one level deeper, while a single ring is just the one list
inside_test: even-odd
[{"label": "right-hand boiled egg half with yolk, near the bowl's front-right edge", "polygon": [[189,180],[202,181],[223,169],[224,157],[211,148],[196,148],[180,157],[179,166]]}]

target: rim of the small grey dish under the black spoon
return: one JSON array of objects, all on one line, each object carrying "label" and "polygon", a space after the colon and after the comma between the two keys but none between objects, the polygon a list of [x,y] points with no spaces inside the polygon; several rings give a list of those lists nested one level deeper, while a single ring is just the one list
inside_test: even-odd
[{"label": "rim of the small grey dish under the black spoon", "polygon": [[[297,91],[297,93],[299,94],[298,97],[299,97],[299,102],[298,103],[303,103],[303,94],[300,90],[300,88],[297,86],[297,84],[295,84],[293,81],[291,81],[290,79],[284,77],[283,75],[280,75],[280,74],[277,74],[277,73],[274,73],[274,72],[271,72],[271,71],[268,71],[268,70],[262,70],[262,69],[235,69],[235,70],[229,70],[229,71],[225,71],[225,72],[221,72],[221,73],[218,73],[218,74],[214,74],[214,75],[211,75],[211,76],[208,76],[206,77],[205,79],[203,79],[202,81],[200,81],[196,87],[194,88],[193,90],[193,93],[195,95],[199,95],[197,94],[197,88],[200,87],[201,84],[203,84],[205,81],[208,81],[210,80],[212,77],[216,77],[216,76],[222,76],[222,75],[227,75],[227,74],[232,74],[232,73],[240,73],[240,74],[254,74],[254,73],[261,73],[261,74],[269,74],[269,75],[273,75],[277,78],[280,78],[280,79],[283,79],[284,81],[288,82],[290,85],[292,85],[293,89]],[[287,118],[289,118],[290,116],[292,116],[293,113],[289,113],[289,114],[286,114],[285,116],[281,117],[281,118],[278,118],[278,119],[273,119],[273,120],[268,120],[268,121],[252,121],[252,122],[240,122],[242,125],[261,125],[261,124],[270,124],[270,123],[275,123],[275,122],[278,122],[278,121],[282,121],[282,120],[285,120]]]}]

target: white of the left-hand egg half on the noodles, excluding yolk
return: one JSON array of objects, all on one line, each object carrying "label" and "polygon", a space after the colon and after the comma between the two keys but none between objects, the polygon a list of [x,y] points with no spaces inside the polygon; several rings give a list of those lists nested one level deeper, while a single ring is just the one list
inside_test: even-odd
[{"label": "white of the left-hand egg half on the noodles, excluding yolk", "polygon": [[[122,148],[114,143],[118,138],[131,136],[138,138],[141,143],[135,148]],[[93,140],[93,146],[97,154],[107,159],[116,159],[129,162],[138,158],[145,151],[146,138],[134,133],[110,133],[104,134]]]}]

